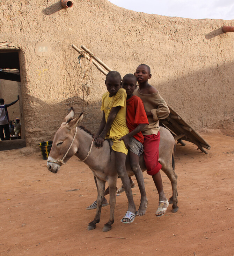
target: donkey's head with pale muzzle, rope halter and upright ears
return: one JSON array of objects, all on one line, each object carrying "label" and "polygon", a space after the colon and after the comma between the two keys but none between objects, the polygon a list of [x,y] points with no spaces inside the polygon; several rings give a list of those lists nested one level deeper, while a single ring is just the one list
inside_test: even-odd
[{"label": "donkey's head with pale muzzle, rope halter and upright ears", "polygon": [[53,144],[47,160],[47,168],[52,173],[57,173],[60,166],[72,157],[78,150],[77,145],[73,143],[76,136],[76,127],[81,122],[83,113],[74,118],[74,109],[65,117],[60,128],[54,135]]}]

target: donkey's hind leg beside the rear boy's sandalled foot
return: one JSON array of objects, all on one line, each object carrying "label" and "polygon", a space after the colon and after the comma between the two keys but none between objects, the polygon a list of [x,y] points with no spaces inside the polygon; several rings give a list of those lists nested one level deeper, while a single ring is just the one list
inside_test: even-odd
[{"label": "donkey's hind leg beside the rear boy's sandalled foot", "polygon": [[162,162],[162,170],[167,175],[171,182],[172,187],[172,196],[169,199],[169,203],[172,203],[172,212],[176,213],[178,211],[177,206],[177,174],[175,173],[175,170],[171,166],[171,162]]}]

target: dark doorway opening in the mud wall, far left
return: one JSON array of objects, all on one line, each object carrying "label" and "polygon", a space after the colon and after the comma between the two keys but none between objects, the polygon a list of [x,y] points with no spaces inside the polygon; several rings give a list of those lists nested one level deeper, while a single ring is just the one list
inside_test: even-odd
[{"label": "dark doorway opening in the mud wall, far left", "polygon": [[[15,102],[17,95],[20,100]],[[0,99],[4,99],[4,109],[7,110],[4,113],[8,115],[8,122],[12,123],[9,126],[10,137],[6,136],[5,130],[4,136],[1,136],[0,151],[26,147],[18,49],[0,47]],[[13,102],[15,103],[10,105]]]}]

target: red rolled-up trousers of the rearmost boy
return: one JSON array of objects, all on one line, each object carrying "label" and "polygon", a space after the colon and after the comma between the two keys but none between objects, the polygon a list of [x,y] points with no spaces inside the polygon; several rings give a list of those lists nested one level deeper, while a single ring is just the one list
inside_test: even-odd
[{"label": "red rolled-up trousers of the rearmost boy", "polygon": [[145,166],[149,175],[154,175],[162,168],[159,163],[159,142],[160,132],[158,134],[144,135],[144,153]]}]

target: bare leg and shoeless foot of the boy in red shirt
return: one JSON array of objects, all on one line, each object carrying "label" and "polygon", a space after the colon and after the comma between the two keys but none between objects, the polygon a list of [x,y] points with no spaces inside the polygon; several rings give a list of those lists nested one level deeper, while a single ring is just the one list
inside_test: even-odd
[{"label": "bare leg and shoeless foot of the boy in red shirt", "polygon": [[146,210],[148,207],[148,200],[146,197],[146,192],[145,192],[145,183],[144,183],[144,177],[139,165],[139,156],[134,154],[132,151],[129,151],[129,158],[130,158],[130,166],[133,171],[133,173],[136,176],[138,187],[140,189],[140,206],[137,211],[138,216],[142,216],[146,214]]}]

